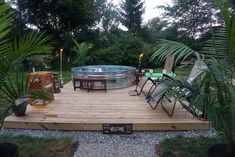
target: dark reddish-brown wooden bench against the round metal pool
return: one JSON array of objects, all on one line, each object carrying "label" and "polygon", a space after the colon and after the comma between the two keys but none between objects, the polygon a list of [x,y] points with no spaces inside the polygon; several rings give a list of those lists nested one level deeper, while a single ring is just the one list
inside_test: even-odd
[{"label": "dark reddish-brown wooden bench against the round metal pool", "polygon": [[[80,86],[76,86],[76,82],[80,82]],[[104,85],[104,88],[96,89],[94,88],[94,83],[100,82],[102,85]],[[84,86],[85,85],[85,86]],[[80,77],[80,76],[74,76],[73,77],[73,88],[76,90],[76,88],[84,89],[87,87],[87,92],[90,90],[105,90],[107,92],[107,79],[104,77]]]}]

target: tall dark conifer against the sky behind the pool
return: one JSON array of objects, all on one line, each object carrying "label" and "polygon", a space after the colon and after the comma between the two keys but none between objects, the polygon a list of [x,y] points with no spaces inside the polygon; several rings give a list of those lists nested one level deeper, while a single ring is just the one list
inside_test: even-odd
[{"label": "tall dark conifer against the sky behind the pool", "polygon": [[121,5],[121,22],[129,31],[139,33],[142,23],[144,2],[142,0],[126,0]]}]

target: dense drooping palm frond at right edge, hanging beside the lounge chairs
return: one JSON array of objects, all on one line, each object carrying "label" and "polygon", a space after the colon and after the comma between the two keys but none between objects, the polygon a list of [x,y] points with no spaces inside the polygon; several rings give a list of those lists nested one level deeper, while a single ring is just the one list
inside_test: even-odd
[{"label": "dense drooping palm frond at right edge, hanging beside the lounge chairs", "polygon": [[[208,60],[209,71],[201,82],[201,96],[206,100],[204,103],[208,109],[208,118],[217,129],[222,128],[229,140],[233,140],[232,130],[234,119],[235,88],[231,78],[218,60]],[[209,98],[209,99],[208,99]],[[235,128],[234,128],[235,129]],[[229,141],[231,142],[231,141]]]}]

